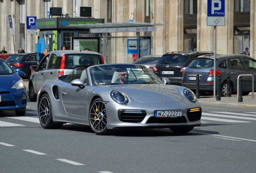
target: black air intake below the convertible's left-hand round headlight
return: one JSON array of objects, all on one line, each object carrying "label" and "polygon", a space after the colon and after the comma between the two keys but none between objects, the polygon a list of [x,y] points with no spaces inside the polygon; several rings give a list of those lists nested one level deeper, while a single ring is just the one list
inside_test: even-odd
[{"label": "black air intake below the convertible's left-hand round headlight", "polygon": [[140,123],[147,115],[146,111],[122,110],[119,111],[120,120],[126,123]]}]

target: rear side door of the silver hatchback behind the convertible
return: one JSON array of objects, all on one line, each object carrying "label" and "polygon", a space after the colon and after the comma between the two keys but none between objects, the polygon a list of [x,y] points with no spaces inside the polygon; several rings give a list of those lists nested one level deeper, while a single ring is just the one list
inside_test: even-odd
[{"label": "rear side door of the silver hatchback behind the convertible", "polygon": [[[43,72],[44,80],[58,78],[58,69],[56,69],[56,64],[57,64],[57,54],[51,53],[50,58],[48,60],[47,68]],[[57,73],[55,72],[56,70],[57,70]]]}]

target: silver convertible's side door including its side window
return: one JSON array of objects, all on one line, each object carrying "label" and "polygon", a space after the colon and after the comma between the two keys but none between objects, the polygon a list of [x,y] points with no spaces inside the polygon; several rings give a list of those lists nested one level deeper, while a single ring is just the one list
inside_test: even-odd
[{"label": "silver convertible's side door including its side window", "polygon": [[[85,67],[78,67],[78,70],[74,70],[70,81],[74,79],[82,79],[83,82],[87,83],[85,79],[87,79],[87,74],[84,72],[86,70]],[[81,74],[85,75],[84,77]],[[64,85],[61,89],[61,97],[62,103],[66,110],[66,113],[71,117],[78,117],[83,119],[88,119],[88,102],[87,102],[87,94],[89,91],[89,86],[78,87],[72,86],[70,83]]]}]

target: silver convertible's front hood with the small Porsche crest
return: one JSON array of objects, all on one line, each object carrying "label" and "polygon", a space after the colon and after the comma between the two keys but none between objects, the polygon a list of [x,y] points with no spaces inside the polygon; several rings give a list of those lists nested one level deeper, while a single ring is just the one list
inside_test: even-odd
[{"label": "silver convertible's front hood with the small Porsche crest", "polygon": [[142,103],[174,103],[182,101],[173,85],[165,84],[122,84],[110,88],[122,91],[128,97]]}]

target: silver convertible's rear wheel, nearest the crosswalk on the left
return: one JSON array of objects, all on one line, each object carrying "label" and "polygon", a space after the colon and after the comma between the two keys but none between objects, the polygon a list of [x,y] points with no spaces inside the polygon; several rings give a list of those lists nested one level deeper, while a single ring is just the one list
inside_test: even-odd
[{"label": "silver convertible's rear wheel, nearest the crosswalk on the left", "polygon": [[63,123],[52,121],[52,102],[47,94],[44,94],[39,101],[39,121],[44,129],[59,129]]}]

